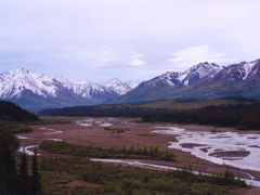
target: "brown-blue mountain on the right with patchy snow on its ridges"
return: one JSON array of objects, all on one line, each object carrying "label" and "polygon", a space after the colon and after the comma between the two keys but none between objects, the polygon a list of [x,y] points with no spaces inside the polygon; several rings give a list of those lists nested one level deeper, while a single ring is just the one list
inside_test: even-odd
[{"label": "brown-blue mountain on the right with patchy snow on its ridges", "polygon": [[260,60],[226,67],[199,63],[183,73],[167,72],[140,83],[115,102],[244,96],[260,100]]}]

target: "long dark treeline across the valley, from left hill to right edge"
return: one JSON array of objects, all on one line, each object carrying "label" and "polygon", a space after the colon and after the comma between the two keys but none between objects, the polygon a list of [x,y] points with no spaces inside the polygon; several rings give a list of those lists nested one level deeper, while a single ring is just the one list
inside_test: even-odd
[{"label": "long dark treeline across the valley, from left hill to right edge", "polygon": [[[240,101],[240,102],[239,102]],[[198,123],[237,129],[260,130],[260,102],[234,99],[234,104],[207,105],[199,108],[156,108],[133,105],[78,106],[47,109],[41,115],[89,117],[142,117],[146,122]],[[197,102],[202,104],[203,102]]]}]

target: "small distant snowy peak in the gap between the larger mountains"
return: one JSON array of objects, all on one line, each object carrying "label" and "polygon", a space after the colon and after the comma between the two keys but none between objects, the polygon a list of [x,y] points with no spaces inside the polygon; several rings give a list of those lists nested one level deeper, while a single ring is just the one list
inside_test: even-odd
[{"label": "small distant snowy peak in the gap between the larger mountains", "polygon": [[116,78],[108,80],[105,83],[105,87],[112,91],[117,92],[120,95],[126,94],[127,92],[132,90],[132,88],[128,86],[126,82],[122,82],[121,80]]}]

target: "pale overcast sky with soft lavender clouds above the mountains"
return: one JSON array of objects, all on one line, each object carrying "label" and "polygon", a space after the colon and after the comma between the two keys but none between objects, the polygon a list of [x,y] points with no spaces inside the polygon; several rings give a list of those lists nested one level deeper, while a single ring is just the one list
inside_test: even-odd
[{"label": "pale overcast sky with soft lavender clouds above the mountains", "polygon": [[260,0],[0,0],[0,72],[104,82],[260,58]]}]

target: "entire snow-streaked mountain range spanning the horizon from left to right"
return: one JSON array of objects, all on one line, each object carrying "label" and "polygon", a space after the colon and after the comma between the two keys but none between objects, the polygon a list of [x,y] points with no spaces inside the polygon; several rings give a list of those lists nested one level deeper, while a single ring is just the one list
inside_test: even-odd
[{"label": "entire snow-streaked mountain range spanning the horizon from left to right", "polygon": [[183,73],[167,72],[140,84],[115,78],[104,84],[50,78],[24,68],[0,75],[0,99],[34,112],[102,103],[237,96],[260,100],[260,60],[226,67],[199,63]]}]

